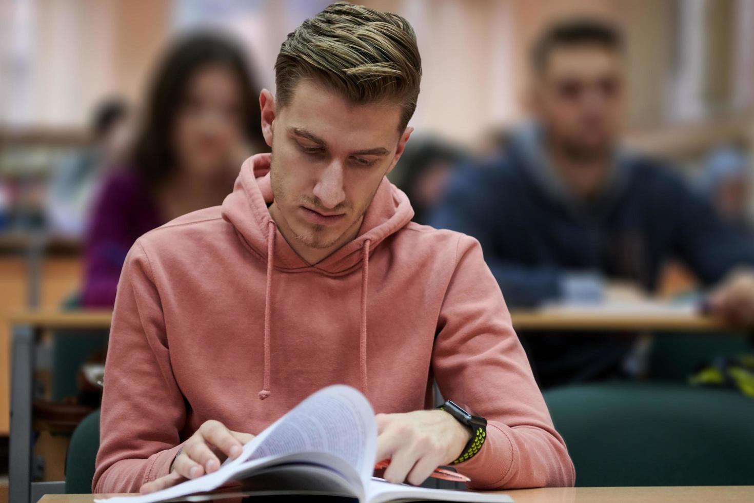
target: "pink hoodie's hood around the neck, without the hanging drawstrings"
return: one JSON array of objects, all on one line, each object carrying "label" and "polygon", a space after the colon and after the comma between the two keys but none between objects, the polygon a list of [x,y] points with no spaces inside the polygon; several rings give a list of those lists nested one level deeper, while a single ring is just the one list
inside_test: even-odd
[{"label": "pink hoodie's hood around the neck, without the hanging drawstrings", "polygon": [[[249,247],[265,259],[268,253],[268,226],[270,222],[274,224],[268,211],[268,204],[273,201],[270,162],[271,154],[257,154],[244,161],[233,192],[222,203],[222,217],[234,226]],[[413,216],[409,198],[385,177],[353,241],[321,262],[310,265],[275,230],[274,268],[290,272],[316,269],[331,275],[349,272],[361,262],[361,250],[366,241],[373,250],[385,238],[409,223]]]}]

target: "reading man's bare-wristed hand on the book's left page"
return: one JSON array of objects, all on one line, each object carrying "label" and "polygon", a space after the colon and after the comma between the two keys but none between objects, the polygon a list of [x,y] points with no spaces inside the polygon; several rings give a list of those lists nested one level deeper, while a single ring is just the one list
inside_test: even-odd
[{"label": "reading man's bare-wristed hand on the book's left page", "polygon": [[184,480],[211,474],[220,468],[225,459],[238,458],[244,443],[253,438],[252,434],[228,430],[219,421],[204,422],[195,434],[183,443],[173,459],[170,474],[144,484],[140,492],[146,494],[160,491]]}]

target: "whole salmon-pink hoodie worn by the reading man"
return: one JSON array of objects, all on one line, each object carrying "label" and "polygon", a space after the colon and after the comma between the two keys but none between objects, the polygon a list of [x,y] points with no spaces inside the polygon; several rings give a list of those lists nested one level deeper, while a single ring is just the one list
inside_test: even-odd
[{"label": "whole salmon-pink hoodie worn by the reading man", "polygon": [[[269,155],[234,192],[139,238],[118,283],[94,492],[167,474],[208,419],[259,434],[342,383],[378,413],[443,396],[489,421],[457,465],[477,489],[571,486],[575,472],[479,243],[411,222],[383,179],[359,234],[316,265],[267,209]],[[264,400],[260,400],[263,398]]]}]

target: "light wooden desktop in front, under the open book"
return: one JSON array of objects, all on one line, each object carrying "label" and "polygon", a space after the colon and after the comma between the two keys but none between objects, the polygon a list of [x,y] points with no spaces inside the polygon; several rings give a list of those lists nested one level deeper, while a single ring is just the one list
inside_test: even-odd
[{"label": "light wooden desktop in front, under the open book", "polygon": [[[751,503],[754,486],[550,487],[501,491],[516,503]],[[40,503],[91,503],[93,495],[45,495]],[[253,501],[253,500],[252,500]],[[306,501],[302,498],[302,501]]]}]

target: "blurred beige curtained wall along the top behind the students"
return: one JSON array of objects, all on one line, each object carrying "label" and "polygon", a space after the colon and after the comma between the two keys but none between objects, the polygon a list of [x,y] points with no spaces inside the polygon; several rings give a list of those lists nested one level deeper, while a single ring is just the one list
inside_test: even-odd
[{"label": "blurred beige curtained wall along the top behind the students", "polygon": [[[0,41],[5,60],[28,60],[25,66],[19,63],[8,84],[17,90],[23,87],[23,99],[15,100],[13,111],[9,103],[0,103],[0,123],[81,127],[93,104],[109,94],[137,100],[165,42],[176,32],[198,24],[222,26],[240,35],[259,66],[262,84],[273,87],[272,65],[284,35],[328,2],[18,3],[28,7],[6,6],[2,23],[11,27],[9,39],[34,37],[32,57],[25,58],[13,48],[23,44],[8,48],[8,41]],[[629,122],[633,129],[703,118],[717,112],[703,103],[710,97],[721,103],[751,100],[752,90],[746,90],[742,83],[754,82],[754,54],[731,50],[734,33],[743,33],[754,23],[754,9],[746,7],[745,0],[363,3],[403,14],[415,26],[424,60],[424,85],[415,127],[464,143],[489,127],[511,124],[523,116],[521,94],[529,78],[529,44],[547,23],[575,14],[606,17],[625,27],[632,100]],[[735,12],[743,15],[731,20]],[[693,20],[694,16],[698,17],[698,29],[688,22],[684,29],[679,28],[679,20]],[[13,20],[23,22],[9,23]],[[734,29],[736,23],[742,29]],[[695,32],[708,35],[698,41]],[[691,38],[684,38],[684,33],[691,33]],[[703,55],[683,56],[688,51],[679,52],[679,48],[715,57],[707,57],[700,64]],[[694,81],[690,76],[696,74],[700,74],[697,84],[686,83]],[[5,99],[10,95],[0,93]],[[674,96],[683,97],[686,106],[673,105]],[[677,110],[669,109],[674,106]]]}]

